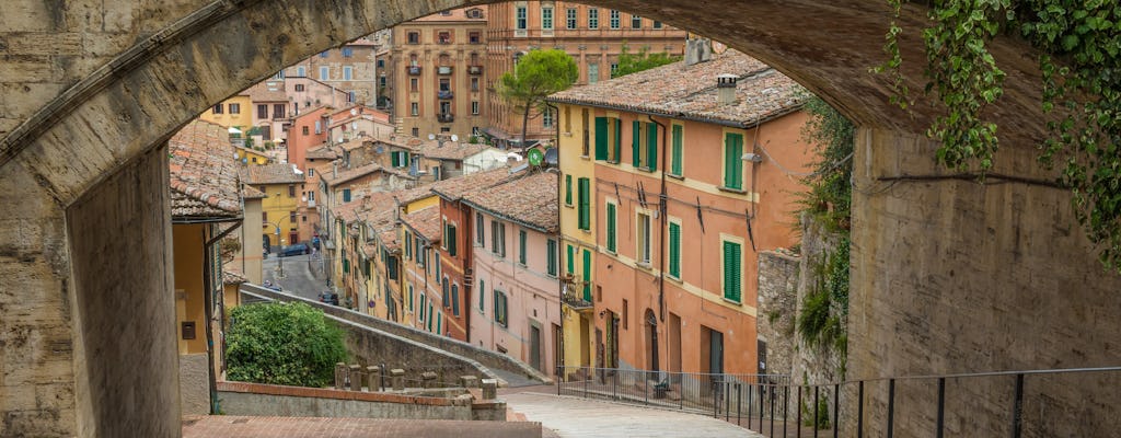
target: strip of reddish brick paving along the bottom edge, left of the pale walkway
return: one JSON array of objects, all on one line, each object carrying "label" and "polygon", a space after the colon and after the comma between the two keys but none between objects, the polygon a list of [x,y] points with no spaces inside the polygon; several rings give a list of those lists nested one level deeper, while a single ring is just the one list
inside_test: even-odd
[{"label": "strip of reddish brick paving along the bottom edge, left of the pale walkway", "polygon": [[183,419],[183,438],[541,438],[539,422],[234,417]]}]

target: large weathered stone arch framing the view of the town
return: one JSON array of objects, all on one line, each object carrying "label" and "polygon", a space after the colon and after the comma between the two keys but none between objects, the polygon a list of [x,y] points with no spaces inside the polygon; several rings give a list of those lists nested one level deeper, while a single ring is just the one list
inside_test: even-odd
[{"label": "large weathered stone arch framing the view of the town", "polygon": [[[133,0],[106,2],[95,11],[81,10],[80,6],[53,11],[56,2],[44,1],[41,8],[28,9],[26,13],[33,17],[26,24],[7,20],[0,25],[0,34],[4,35],[43,26],[92,41],[76,53],[55,55],[57,59],[52,62],[57,64],[43,69],[53,77],[52,86],[22,87],[25,93],[37,93],[41,99],[9,97],[4,102],[8,113],[0,119],[0,134],[4,134],[0,141],[0,180],[10,187],[0,190],[0,203],[18,206],[0,227],[0,273],[8,288],[3,291],[29,293],[21,299],[35,300],[46,309],[0,306],[0,328],[6,330],[0,336],[16,334],[4,338],[13,339],[12,347],[30,350],[21,357],[4,356],[0,370],[31,370],[18,380],[0,382],[4,388],[0,397],[13,400],[7,397],[7,388],[36,388],[37,393],[56,395],[46,407],[0,408],[4,410],[0,413],[21,412],[15,422],[3,426],[8,430],[0,432],[177,435],[176,374],[169,369],[175,352],[170,343],[161,341],[170,339],[174,333],[167,323],[174,318],[168,318],[166,311],[170,297],[148,293],[170,288],[166,268],[169,251],[160,250],[168,245],[167,195],[166,189],[140,189],[166,187],[166,157],[160,156],[159,145],[211,104],[286,65],[398,22],[488,2],[180,0],[166,6]],[[724,41],[825,97],[863,127],[855,157],[859,188],[876,184],[884,175],[942,171],[929,165],[934,145],[921,136],[936,110],[920,100],[911,113],[902,112],[888,103],[888,78],[868,72],[883,59],[880,47],[891,11],[881,0],[586,2]],[[905,59],[923,59],[917,35],[925,24],[924,10],[909,4],[899,22],[908,32],[901,40]],[[108,28],[119,35],[104,30]],[[57,49],[66,53],[77,45],[71,41]],[[4,50],[8,47],[6,44]],[[1028,153],[1044,133],[1038,122],[1040,91],[1035,52],[1022,41],[1003,37],[990,47],[1009,74],[1007,92],[992,110],[994,121],[1009,127],[1001,132],[1004,149],[998,156],[995,171],[1047,177]],[[906,65],[911,90],[923,88],[916,82],[920,71],[919,62]],[[0,72],[0,81],[18,88],[26,80],[13,75]],[[1095,278],[1093,258],[1085,252],[1088,245],[1077,231],[1072,232],[1071,215],[1055,213],[1065,212],[1065,194],[1022,186],[990,189],[969,183],[948,184],[949,189],[935,183],[912,185],[890,197],[879,196],[882,193],[876,190],[860,192],[854,199],[859,208],[853,221],[853,283],[861,289],[853,299],[865,304],[858,310],[863,314],[854,319],[883,318],[882,324],[851,330],[850,345],[861,348],[851,362],[858,376],[911,372],[916,363],[924,361],[921,367],[944,372],[971,365],[1031,366],[1025,365],[1029,361],[1012,358],[971,363],[979,356],[970,350],[972,344],[932,347],[936,353],[961,354],[956,358],[938,361],[934,354],[925,357],[914,353],[910,361],[886,357],[921,345],[924,338],[917,330],[929,330],[930,324],[937,324],[923,319],[930,306],[953,309],[964,307],[954,300],[970,302],[973,296],[1000,295],[999,306],[1008,306],[1013,313],[1030,310],[1016,307],[1015,293],[1030,280],[1018,280],[1012,274],[985,279],[997,267],[981,269],[971,257],[957,252],[990,239],[995,232],[989,232],[988,225],[1010,224],[1015,229],[1015,235],[995,233],[999,243],[982,248],[982,255],[990,260],[1012,260],[1015,269],[1010,271],[1041,272],[1051,261],[1073,259],[1085,262],[1085,267],[1048,278],[1049,283],[1085,285],[1084,278]],[[1002,208],[1006,204],[1009,207]],[[980,225],[978,216],[983,220]],[[969,230],[961,242],[947,242],[933,250],[916,242],[923,240],[924,233],[949,234],[962,227]],[[100,257],[105,253],[115,258]],[[892,259],[908,260],[909,267],[886,268]],[[944,295],[932,298],[926,285],[937,281],[961,290],[939,290]],[[889,292],[900,283],[908,288],[901,298]],[[1106,314],[1121,310],[1110,293],[1121,288],[1121,281],[1111,277],[1085,288],[1088,291],[1078,296],[1076,305],[1064,299],[1032,299],[1043,307],[1060,307],[1060,311],[1073,315],[1084,313],[1077,306],[1101,304]],[[908,304],[912,296],[925,300]],[[990,330],[986,333],[1003,333],[1000,329],[1007,328],[1009,319],[986,320],[992,319],[989,316],[976,314],[970,319],[981,321]],[[1036,323],[1044,324],[1027,333],[1043,334],[1045,342],[1032,352],[1091,352],[1074,365],[1119,360],[1117,348],[1094,353],[1103,344],[1109,345],[1112,337],[1080,339],[1078,330],[1048,337],[1046,333],[1054,332],[1055,326],[1046,320]],[[897,325],[912,332],[892,337]],[[1121,333],[1118,328],[1117,323],[1097,323],[1083,332]],[[1030,336],[1007,336],[1010,339],[1004,339],[1006,344],[1032,343]]]}]

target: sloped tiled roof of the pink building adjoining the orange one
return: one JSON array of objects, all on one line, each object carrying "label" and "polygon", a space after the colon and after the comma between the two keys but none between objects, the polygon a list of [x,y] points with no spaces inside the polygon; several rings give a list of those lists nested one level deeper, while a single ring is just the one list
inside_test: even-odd
[{"label": "sloped tiled roof of the pink building adjoining the orange one", "polygon": [[559,230],[557,174],[534,171],[463,196],[463,202],[507,221],[546,233]]}]

